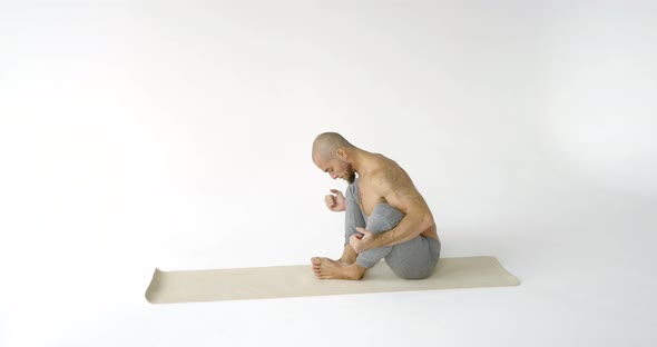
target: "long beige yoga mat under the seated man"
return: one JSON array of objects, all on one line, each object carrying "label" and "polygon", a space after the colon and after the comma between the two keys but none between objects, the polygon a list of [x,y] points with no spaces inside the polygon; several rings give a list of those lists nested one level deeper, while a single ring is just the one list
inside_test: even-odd
[{"label": "long beige yoga mat under the seated man", "polygon": [[317,279],[310,264],[190,271],[155,269],[146,299],[150,304],[174,304],[519,284],[494,257],[443,258],[431,277],[420,280],[396,277],[383,261],[367,270],[362,280]]}]

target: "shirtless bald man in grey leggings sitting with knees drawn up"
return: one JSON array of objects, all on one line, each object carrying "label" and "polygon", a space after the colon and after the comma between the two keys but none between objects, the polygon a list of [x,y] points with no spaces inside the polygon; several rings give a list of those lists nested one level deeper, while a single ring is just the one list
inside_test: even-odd
[{"label": "shirtless bald man in grey leggings sitting with knees drawn up", "polygon": [[315,138],[313,161],[331,178],[349,182],[346,198],[336,189],[325,197],[329,209],[345,211],[345,245],[339,260],[311,259],[317,278],[361,279],[381,259],[401,278],[431,276],[441,248],[433,216],[396,162],[336,132]]}]

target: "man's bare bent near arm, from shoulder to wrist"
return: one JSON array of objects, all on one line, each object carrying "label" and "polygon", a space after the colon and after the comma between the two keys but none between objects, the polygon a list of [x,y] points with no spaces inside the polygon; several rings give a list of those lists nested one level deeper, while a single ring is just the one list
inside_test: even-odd
[{"label": "man's bare bent near arm, from shoulder to wrist", "polygon": [[409,241],[434,225],[426,201],[408,179],[396,177],[394,170],[389,169],[375,182],[377,192],[388,204],[404,212],[405,216],[396,227],[376,235],[373,248]]}]

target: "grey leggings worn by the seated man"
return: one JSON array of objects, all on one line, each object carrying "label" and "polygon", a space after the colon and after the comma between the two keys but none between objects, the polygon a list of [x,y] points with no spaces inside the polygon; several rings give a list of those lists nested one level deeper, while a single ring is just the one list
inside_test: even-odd
[{"label": "grey leggings worn by the seated man", "polygon": [[[367,218],[361,210],[359,202],[357,179],[346,189],[346,220],[345,220],[345,246],[349,239],[356,232],[356,227],[365,228],[374,234],[382,234],[394,228],[404,217],[396,208],[388,204],[379,204],[374,207],[372,216]],[[431,276],[440,259],[440,240],[418,236],[412,240],[394,246],[373,248],[360,254],[356,262],[371,268],[381,259],[394,271],[405,279],[422,279]]]}]

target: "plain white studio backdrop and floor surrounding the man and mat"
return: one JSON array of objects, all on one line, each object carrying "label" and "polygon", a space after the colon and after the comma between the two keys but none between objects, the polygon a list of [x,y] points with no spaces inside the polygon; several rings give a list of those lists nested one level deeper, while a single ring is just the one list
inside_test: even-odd
[{"label": "plain white studio backdrop and floor surrounding the man and mat", "polygon": [[[654,346],[653,1],[0,1],[0,346]],[[336,257],[322,131],[482,288],[153,306]],[[308,268],[310,271],[310,268]]]}]

